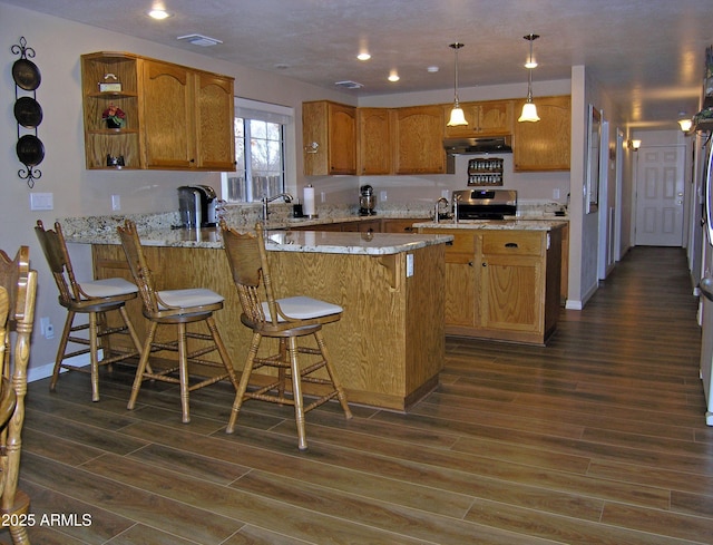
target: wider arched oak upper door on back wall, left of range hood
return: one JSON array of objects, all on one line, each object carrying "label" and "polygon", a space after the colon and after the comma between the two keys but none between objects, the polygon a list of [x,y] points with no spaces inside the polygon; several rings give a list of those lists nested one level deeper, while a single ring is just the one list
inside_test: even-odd
[{"label": "wider arched oak upper door on back wall, left of range hood", "polygon": [[443,174],[445,116],[442,106],[394,110],[395,173]]}]

